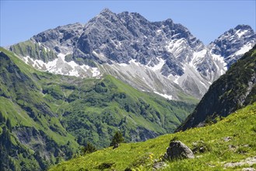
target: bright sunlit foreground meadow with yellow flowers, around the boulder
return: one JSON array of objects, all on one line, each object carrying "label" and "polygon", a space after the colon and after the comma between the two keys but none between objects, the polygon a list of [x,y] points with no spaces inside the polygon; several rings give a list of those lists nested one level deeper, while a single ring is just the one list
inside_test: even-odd
[{"label": "bright sunlit foreground meadow with yellow flowers, around the boulder", "polygon": [[[173,138],[184,142],[191,149],[200,147],[195,145],[196,141],[203,141],[201,144],[207,150],[195,153],[195,159],[166,162],[167,166],[163,170],[240,170],[247,165],[226,169],[224,164],[256,156],[255,123],[256,103],[230,114],[217,124],[166,134],[144,142],[121,144],[115,149],[104,148],[61,162],[50,170],[100,170],[103,166],[108,167],[107,170],[151,170],[154,162],[163,157]],[[256,164],[253,167],[256,168]]]}]

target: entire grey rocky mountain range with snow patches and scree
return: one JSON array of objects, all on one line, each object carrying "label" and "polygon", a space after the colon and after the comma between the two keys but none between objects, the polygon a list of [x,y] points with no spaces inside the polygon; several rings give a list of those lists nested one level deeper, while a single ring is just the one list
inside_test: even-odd
[{"label": "entire grey rocky mountain range with snow patches and scree", "polygon": [[78,77],[114,75],[167,99],[201,99],[209,86],[256,43],[239,25],[206,46],[172,19],[149,22],[139,13],[103,9],[86,24],[46,30],[9,50],[42,71]]}]

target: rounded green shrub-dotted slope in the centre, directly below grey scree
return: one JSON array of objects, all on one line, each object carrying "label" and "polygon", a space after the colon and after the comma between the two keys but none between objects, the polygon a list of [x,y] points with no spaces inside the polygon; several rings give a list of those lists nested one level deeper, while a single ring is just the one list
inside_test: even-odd
[{"label": "rounded green shrub-dotted slope in the centre, directly below grey scree", "polygon": [[[61,103],[61,123],[79,143],[90,141],[106,147],[117,129],[126,141],[144,141],[173,132],[193,105],[168,101],[124,85],[110,75],[103,79],[73,82],[67,102]],[[62,91],[67,91],[61,86]]]}]

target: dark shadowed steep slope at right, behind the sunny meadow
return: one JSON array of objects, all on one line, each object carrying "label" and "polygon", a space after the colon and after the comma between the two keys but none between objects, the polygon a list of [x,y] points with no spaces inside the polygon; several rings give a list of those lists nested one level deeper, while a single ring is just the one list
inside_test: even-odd
[{"label": "dark shadowed steep slope at right, behind the sunny meadow", "polygon": [[226,117],[256,101],[256,46],[233,64],[210,86],[195,111],[177,131],[202,126],[216,117]]}]

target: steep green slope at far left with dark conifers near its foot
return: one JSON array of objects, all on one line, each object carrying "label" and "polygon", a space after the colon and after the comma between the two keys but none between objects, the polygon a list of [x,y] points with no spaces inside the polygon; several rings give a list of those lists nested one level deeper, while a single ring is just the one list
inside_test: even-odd
[{"label": "steep green slope at far left with dark conifers near its foot", "polygon": [[40,72],[9,51],[0,51],[0,169],[40,170],[60,156],[72,157],[79,145],[44,99],[35,79]]}]

